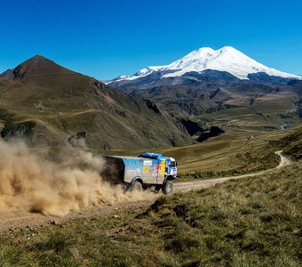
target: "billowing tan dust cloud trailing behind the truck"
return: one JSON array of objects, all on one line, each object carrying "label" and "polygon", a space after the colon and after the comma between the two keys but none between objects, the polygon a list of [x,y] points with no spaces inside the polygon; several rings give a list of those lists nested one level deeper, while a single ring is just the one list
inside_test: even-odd
[{"label": "billowing tan dust cloud trailing behind the truck", "polygon": [[103,181],[103,166],[102,158],[85,150],[67,148],[51,159],[47,151],[0,140],[0,210],[63,216],[87,206],[151,198]]}]

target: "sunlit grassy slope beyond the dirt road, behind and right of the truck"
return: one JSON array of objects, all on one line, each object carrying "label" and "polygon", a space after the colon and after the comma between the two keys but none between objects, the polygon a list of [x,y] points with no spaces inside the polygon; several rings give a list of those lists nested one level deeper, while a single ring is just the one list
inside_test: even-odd
[{"label": "sunlit grassy slope beyond the dirt road, behind and right of the truck", "polygon": [[[179,163],[179,181],[203,179],[216,176],[252,173],[277,166],[276,150],[285,150],[278,142],[288,134],[302,139],[302,129],[259,133],[230,129],[226,134],[195,145],[159,148],[165,156],[176,158]],[[273,145],[274,143],[274,145]],[[100,153],[114,155],[138,155],[143,150],[107,150]],[[290,153],[287,153],[290,155]]]}]

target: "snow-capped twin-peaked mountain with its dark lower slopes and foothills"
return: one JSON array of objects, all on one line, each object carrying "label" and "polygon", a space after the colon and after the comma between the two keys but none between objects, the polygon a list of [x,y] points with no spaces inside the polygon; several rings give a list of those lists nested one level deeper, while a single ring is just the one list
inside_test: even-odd
[{"label": "snow-capped twin-peaked mountain with its dark lower slopes and foothills", "polygon": [[175,117],[194,117],[203,125],[234,119],[250,127],[253,120],[254,126],[267,130],[301,116],[301,78],[226,46],[217,51],[200,48],[169,65],[147,67],[107,85],[156,101]]}]

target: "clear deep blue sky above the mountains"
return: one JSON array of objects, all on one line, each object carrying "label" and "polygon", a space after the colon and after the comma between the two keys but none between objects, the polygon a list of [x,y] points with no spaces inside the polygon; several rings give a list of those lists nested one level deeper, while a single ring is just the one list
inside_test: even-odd
[{"label": "clear deep blue sky above the mountains", "polygon": [[301,0],[0,0],[0,72],[35,54],[99,79],[225,45],[302,75]]}]

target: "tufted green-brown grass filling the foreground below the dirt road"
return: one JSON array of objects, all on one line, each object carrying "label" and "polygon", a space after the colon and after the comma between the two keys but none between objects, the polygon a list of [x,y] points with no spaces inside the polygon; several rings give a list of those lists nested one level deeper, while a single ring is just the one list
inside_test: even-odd
[{"label": "tufted green-brown grass filling the foreground below the dirt road", "polygon": [[301,266],[300,163],[35,236],[2,233],[0,265]]}]

